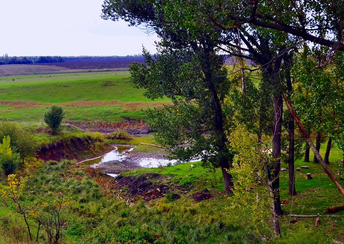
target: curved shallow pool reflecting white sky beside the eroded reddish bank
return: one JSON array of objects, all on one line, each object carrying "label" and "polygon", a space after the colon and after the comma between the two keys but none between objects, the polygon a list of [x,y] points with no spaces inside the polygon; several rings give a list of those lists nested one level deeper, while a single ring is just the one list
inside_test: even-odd
[{"label": "curved shallow pool reflecting white sky beside the eroded reddish bank", "polygon": [[86,165],[90,165],[93,168],[100,165],[101,163],[109,162],[109,161],[123,161],[126,158],[126,153],[130,152],[134,149],[134,147],[128,146],[117,146],[115,150],[104,154],[103,156],[87,159],[82,161],[82,163]]}]

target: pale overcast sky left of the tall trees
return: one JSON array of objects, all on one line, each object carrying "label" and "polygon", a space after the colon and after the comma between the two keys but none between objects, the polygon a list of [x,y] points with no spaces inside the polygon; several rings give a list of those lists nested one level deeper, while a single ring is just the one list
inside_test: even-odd
[{"label": "pale overcast sky left of the tall trees", "polygon": [[112,56],[156,49],[148,35],[125,21],[100,18],[103,0],[0,0],[0,55]]}]

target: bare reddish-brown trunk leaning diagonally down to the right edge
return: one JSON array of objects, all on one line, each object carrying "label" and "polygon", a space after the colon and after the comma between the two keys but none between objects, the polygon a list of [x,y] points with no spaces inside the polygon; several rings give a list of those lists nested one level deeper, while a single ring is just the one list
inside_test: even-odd
[{"label": "bare reddish-brown trunk leaning diagonally down to the right edge", "polygon": [[308,143],[308,145],[310,146],[310,148],[312,148],[312,151],[314,152],[314,155],[316,156],[316,158],[318,158],[319,162],[321,163],[321,166],[324,168],[324,171],[326,172],[326,174],[330,177],[330,179],[332,180],[332,182],[336,185],[336,187],[338,188],[338,190],[340,191],[340,193],[342,195],[344,195],[344,188],[342,187],[342,185],[336,180],[336,178],[334,178],[331,170],[329,169],[329,167],[327,167],[325,161],[322,159],[322,157],[320,156],[319,152],[315,149],[313,142],[311,141],[311,139],[309,138],[309,135],[307,134],[307,132],[305,131],[305,129],[302,126],[302,123],[299,119],[299,117],[295,114],[293,108],[291,107],[286,95],[282,92],[282,96],[284,98],[284,101],[286,102],[286,105],[290,111],[290,113],[294,116],[295,122],[297,123],[297,125],[300,128],[300,131],[304,137],[304,139],[306,140],[306,142]]}]

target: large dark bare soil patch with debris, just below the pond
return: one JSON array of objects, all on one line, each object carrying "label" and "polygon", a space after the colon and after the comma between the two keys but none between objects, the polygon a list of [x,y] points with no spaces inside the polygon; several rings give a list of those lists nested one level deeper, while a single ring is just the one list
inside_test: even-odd
[{"label": "large dark bare soil patch with debris, just below the pond", "polygon": [[144,174],[139,177],[117,177],[117,187],[127,189],[130,195],[140,195],[145,201],[162,198],[170,192],[168,185],[162,184],[164,178],[160,174]]}]

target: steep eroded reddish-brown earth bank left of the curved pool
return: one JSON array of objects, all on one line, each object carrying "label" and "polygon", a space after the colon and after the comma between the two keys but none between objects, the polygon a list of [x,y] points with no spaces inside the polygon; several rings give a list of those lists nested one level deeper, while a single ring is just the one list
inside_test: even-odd
[{"label": "steep eroded reddish-brown earth bank left of the curved pool", "polygon": [[[68,141],[58,141],[53,144],[42,146],[37,155],[44,161],[62,159],[80,159],[82,154],[89,151],[98,140],[89,136],[86,138],[72,137]],[[110,146],[109,146],[110,147]]]}]

